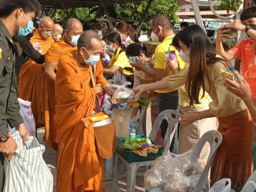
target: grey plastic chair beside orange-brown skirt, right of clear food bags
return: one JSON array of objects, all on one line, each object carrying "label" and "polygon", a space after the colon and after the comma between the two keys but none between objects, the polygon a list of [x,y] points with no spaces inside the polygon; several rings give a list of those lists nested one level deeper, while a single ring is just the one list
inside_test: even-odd
[{"label": "grey plastic chair beside orange-brown skirt, right of clear food bags", "polygon": [[[217,139],[217,141],[215,142],[215,139]],[[196,144],[195,149],[193,150],[193,155],[198,159],[199,155],[201,154],[201,151],[205,145],[206,142],[209,142],[210,144],[210,154],[208,156],[204,171],[201,175],[201,177],[199,178],[197,185],[195,187],[195,189],[193,190],[193,192],[201,192],[201,191],[209,191],[209,186],[206,186],[207,188],[205,189],[205,183],[208,183],[208,174],[209,174],[209,170],[214,158],[214,155],[216,153],[216,150],[218,149],[218,147],[220,146],[221,142],[222,142],[222,135],[219,131],[207,131],[206,133],[204,133],[202,135],[202,137],[199,139],[199,141]],[[146,190],[147,192],[164,192],[163,189],[149,189]]]}]

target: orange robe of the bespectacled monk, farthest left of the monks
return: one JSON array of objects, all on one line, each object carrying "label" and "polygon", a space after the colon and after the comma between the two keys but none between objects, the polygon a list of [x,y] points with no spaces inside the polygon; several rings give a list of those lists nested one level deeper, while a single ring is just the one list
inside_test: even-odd
[{"label": "orange robe of the bespectacled monk, farthest left of the monks", "polygon": [[[41,54],[46,54],[54,40],[52,37],[45,39],[38,30],[35,31],[30,43]],[[35,118],[36,126],[44,125],[44,68],[29,59],[24,63],[19,76],[19,98],[31,101],[31,109]]]}]

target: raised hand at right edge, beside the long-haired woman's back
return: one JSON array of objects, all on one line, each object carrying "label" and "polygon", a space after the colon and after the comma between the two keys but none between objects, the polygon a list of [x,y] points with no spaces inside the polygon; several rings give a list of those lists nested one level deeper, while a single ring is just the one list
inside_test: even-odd
[{"label": "raised hand at right edge, beside the long-haired woman's back", "polygon": [[237,77],[238,83],[226,78],[224,82],[226,89],[243,100],[251,99],[252,91],[250,89],[250,85],[243,77],[237,73],[237,71],[235,71],[235,75]]}]

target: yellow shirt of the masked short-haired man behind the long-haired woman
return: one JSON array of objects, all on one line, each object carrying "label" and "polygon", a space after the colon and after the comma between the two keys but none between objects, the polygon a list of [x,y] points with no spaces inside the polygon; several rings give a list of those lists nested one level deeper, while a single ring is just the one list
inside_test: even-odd
[{"label": "yellow shirt of the masked short-haired man behind the long-haired woman", "polygon": [[[168,36],[164,39],[162,43],[157,45],[155,49],[155,61],[154,61],[154,68],[155,69],[163,69],[165,70],[164,77],[172,76],[172,71],[167,67],[166,61],[165,61],[165,52],[166,51],[175,51],[175,55],[179,61],[180,68],[183,69],[185,66],[185,63],[180,59],[179,52],[175,49],[174,46],[170,47],[170,44],[172,43],[172,39],[175,35]],[[170,47],[170,50],[169,50]],[[172,91],[178,90],[177,89],[171,89],[171,90],[157,90],[156,93],[170,93]]]}]

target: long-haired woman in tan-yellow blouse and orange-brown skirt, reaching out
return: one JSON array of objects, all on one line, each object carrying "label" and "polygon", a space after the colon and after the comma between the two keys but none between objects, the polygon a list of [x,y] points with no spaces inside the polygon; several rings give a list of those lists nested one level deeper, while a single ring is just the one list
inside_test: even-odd
[{"label": "long-haired woman in tan-yellow blouse and orange-brown skirt, reaching out", "polygon": [[242,99],[223,85],[221,69],[228,71],[228,63],[217,57],[205,31],[198,25],[183,29],[179,34],[179,45],[180,57],[189,62],[189,68],[162,81],[140,85],[134,92],[173,89],[185,84],[190,106],[199,103],[201,87],[203,95],[208,92],[212,99],[210,109],[182,115],[181,124],[187,126],[200,119],[218,117],[218,131],[223,140],[212,163],[211,185],[222,178],[230,178],[231,188],[241,191],[252,173],[252,118]]}]

